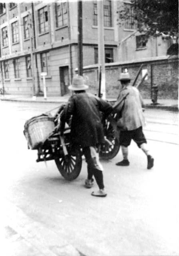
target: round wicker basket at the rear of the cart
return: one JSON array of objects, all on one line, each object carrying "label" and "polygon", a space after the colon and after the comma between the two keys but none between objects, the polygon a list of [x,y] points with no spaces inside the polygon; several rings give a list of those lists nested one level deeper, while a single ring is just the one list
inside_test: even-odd
[{"label": "round wicker basket at the rear of the cart", "polygon": [[35,116],[26,121],[24,135],[31,149],[38,149],[54,130],[54,118],[46,114]]}]

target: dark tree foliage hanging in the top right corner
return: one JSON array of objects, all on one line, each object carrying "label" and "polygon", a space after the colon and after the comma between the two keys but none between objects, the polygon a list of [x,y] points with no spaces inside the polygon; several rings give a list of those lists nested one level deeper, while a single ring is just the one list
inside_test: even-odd
[{"label": "dark tree foliage hanging in the top right corner", "polygon": [[177,0],[131,0],[131,4],[119,6],[118,23],[130,20],[131,26],[136,25],[147,36],[173,37],[178,33],[178,10]]}]

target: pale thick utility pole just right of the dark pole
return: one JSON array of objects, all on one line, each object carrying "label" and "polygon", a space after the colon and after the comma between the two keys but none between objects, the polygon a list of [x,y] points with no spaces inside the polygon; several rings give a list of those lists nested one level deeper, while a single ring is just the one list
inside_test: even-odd
[{"label": "pale thick utility pole just right of the dark pole", "polygon": [[101,66],[101,94],[105,100],[105,50],[104,50],[103,0],[97,1],[98,63]]}]

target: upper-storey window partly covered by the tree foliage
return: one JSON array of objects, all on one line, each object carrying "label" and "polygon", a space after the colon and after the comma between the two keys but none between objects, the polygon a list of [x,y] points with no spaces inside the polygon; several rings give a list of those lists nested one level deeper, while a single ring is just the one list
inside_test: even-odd
[{"label": "upper-storey window partly covered by the tree foliage", "polygon": [[124,8],[127,16],[125,19],[124,28],[137,29],[137,22],[134,20],[133,6],[131,6],[131,4],[124,3]]}]

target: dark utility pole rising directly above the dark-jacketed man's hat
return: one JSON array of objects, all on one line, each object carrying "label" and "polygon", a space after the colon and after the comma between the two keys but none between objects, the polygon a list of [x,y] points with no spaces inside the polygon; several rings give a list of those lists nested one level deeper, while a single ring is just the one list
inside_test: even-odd
[{"label": "dark utility pole rising directly above the dark-jacketed man's hat", "polygon": [[83,76],[83,14],[82,0],[78,1],[78,74]]}]

